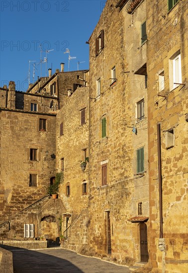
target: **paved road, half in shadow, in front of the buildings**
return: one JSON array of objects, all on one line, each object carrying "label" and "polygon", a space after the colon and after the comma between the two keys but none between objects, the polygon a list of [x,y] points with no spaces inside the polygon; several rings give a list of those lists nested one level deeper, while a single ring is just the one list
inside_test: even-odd
[{"label": "paved road, half in shadow, in front of the buildings", "polygon": [[14,273],[129,273],[126,267],[64,249],[13,251]]}]

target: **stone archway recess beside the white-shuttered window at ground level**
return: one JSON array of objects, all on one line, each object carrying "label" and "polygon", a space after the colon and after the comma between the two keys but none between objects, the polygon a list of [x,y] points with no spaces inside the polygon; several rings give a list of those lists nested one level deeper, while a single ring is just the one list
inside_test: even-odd
[{"label": "stone archway recess beside the white-shuttered window at ground level", "polygon": [[58,237],[58,226],[54,216],[47,215],[41,219],[40,236],[45,239],[56,241],[56,238]]}]

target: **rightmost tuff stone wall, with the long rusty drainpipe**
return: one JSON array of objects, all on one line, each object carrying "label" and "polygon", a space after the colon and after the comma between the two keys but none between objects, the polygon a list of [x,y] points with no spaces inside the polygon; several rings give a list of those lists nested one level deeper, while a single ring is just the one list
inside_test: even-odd
[{"label": "rightmost tuff stone wall, with the long rusty drainpipe", "polygon": [[[179,3],[168,13],[167,1],[155,1],[147,9],[148,49],[148,119],[149,185],[150,185],[150,249],[154,272],[187,272],[187,179],[188,179],[188,113],[187,85],[170,91],[173,73],[170,58],[180,50],[182,82],[188,78],[188,3]],[[157,13],[154,12],[157,10]],[[177,19],[177,23],[175,21]],[[159,91],[159,72],[164,69],[165,89]],[[157,123],[161,124],[163,238],[160,251]],[[166,131],[174,129],[174,146],[167,149]]]}]

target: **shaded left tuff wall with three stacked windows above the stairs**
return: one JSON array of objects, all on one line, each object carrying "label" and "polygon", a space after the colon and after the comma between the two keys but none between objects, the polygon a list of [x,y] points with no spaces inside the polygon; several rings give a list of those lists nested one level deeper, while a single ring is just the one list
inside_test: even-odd
[{"label": "shaded left tuff wall with three stacked windows above the stairs", "polygon": [[[46,132],[39,131],[39,118],[47,119]],[[11,206],[54,176],[50,154],[55,154],[55,116],[1,111],[0,122],[0,193]],[[30,148],[38,149],[38,160],[30,160]],[[38,175],[37,187],[29,187],[29,174]]]}]

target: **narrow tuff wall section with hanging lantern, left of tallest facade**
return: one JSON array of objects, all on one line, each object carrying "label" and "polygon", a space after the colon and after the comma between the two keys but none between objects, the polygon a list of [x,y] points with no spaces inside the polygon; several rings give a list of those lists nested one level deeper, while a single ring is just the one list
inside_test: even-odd
[{"label": "narrow tuff wall section with hanging lantern, left of tallest facade", "polygon": [[[86,109],[86,123],[81,125],[81,110]],[[63,136],[60,136],[60,124],[63,123]],[[62,214],[62,234],[67,238],[65,247],[78,250],[87,242],[87,207],[88,207],[88,165],[85,171],[81,162],[85,161],[83,149],[89,147],[89,88],[78,88],[67,104],[57,114],[56,122],[56,169],[63,171],[64,179],[60,185],[59,197],[66,206]],[[64,170],[61,159],[64,158]],[[90,159],[89,159],[90,162]],[[87,183],[87,194],[83,194],[83,183]],[[66,187],[70,186],[67,197]],[[66,224],[67,217],[69,218]],[[67,232],[64,231],[71,225]]]}]

